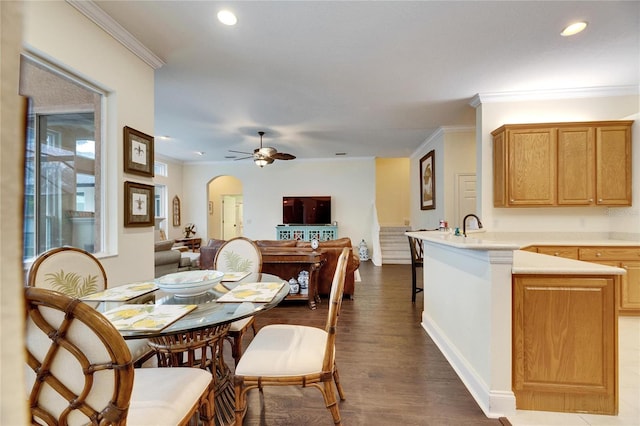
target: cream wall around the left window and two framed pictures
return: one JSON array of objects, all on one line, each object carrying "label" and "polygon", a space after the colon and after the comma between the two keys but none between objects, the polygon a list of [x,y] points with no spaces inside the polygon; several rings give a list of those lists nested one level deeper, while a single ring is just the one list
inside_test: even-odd
[{"label": "cream wall around the left window and two framed pictures", "polygon": [[123,128],[153,134],[154,70],[66,2],[24,3],[25,48],[106,90],[108,253],[99,257],[109,285],[153,278],[153,227],[123,227]]}]

